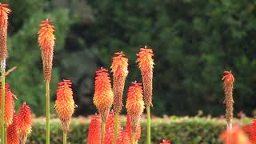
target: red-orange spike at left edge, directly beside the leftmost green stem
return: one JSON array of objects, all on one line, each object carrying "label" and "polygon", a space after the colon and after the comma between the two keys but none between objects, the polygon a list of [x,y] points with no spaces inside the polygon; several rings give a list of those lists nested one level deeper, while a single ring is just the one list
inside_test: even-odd
[{"label": "red-orange spike at left edge, directly beside the leftmost green stem", "polygon": [[[4,122],[5,127],[7,128],[10,126],[10,124],[13,122],[14,117],[14,98],[13,94],[10,91],[8,83],[6,83],[6,90],[5,90],[5,116],[4,116]],[[2,98],[2,89],[0,89],[0,100]],[[2,102],[0,102],[0,107],[2,106]]]}]

